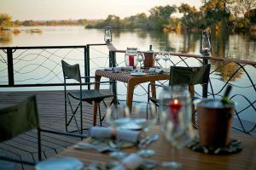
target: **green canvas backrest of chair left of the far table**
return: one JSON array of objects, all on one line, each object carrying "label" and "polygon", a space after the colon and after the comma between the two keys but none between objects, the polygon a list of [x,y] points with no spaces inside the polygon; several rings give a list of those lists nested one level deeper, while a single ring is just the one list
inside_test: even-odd
[{"label": "green canvas backrest of chair left of the far table", "polygon": [[63,59],[61,60],[63,76],[65,79],[74,79],[81,82],[80,68],[79,64],[69,65]]}]

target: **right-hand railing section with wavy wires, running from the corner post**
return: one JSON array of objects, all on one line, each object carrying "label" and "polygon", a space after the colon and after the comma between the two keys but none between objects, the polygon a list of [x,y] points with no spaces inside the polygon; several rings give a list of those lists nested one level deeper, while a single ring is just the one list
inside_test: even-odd
[{"label": "right-hand railing section with wavy wires, running from the corner post", "polygon": [[[113,59],[113,66],[122,65],[124,62],[125,50],[109,48],[110,58]],[[207,90],[208,99],[220,99],[224,95],[224,88],[227,85],[233,87],[230,99],[235,101],[236,109],[233,121],[233,128],[239,132],[256,135],[256,62],[241,59],[226,59],[219,57],[203,58],[195,54],[170,53],[171,58],[167,61],[167,67],[198,66],[210,63],[210,82]],[[158,65],[165,67],[164,61]],[[159,82],[168,83],[166,81]],[[195,93],[202,97],[204,87],[196,86]],[[144,94],[147,88],[144,88]],[[136,94],[135,94],[136,95]]]}]

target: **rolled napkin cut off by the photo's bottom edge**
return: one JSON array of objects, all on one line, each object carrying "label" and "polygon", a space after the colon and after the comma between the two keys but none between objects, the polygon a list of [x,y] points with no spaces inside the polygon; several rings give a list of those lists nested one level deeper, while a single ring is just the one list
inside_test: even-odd
[{"label": "rolled napkin cut off by the photo's bottom edge", "polygon": [[140,165],[143,164],[143,158],[137,154],[131,154],[116,167],[113,167],[112,170],[125,170],[125,169],[137,169]]}]

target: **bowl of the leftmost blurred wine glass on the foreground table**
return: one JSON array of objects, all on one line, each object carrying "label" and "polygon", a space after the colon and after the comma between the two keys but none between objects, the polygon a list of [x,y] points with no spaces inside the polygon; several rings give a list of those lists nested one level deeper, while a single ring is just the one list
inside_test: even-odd
[{"label": "bowl of the leftmost blurred wine glass on the foreground table", "polygon": [[110,105],[106,112],[106,122],[111,127],[123,127],[130,122],[130,111],[125,105]]}]

